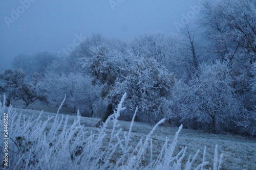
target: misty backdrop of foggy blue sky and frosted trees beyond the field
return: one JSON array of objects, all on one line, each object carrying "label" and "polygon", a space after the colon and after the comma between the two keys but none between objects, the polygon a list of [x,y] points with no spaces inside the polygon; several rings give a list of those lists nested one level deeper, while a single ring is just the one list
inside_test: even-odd
[{"label": "misty backdrop of foggy blue sky and frosted trees beyond the field", "polygon": [[256,134],[255,1],[5,2],[7,107]]}]

